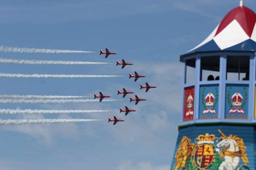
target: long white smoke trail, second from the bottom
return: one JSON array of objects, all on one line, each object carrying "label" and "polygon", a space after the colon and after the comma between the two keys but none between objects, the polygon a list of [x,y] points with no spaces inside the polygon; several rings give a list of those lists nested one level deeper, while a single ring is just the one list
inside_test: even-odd
[{"label": "long white smoke trail, second from the bottom", "polygon": [[113,112],[114,110],[39,110],[39,109],[0,109],[0,114],[55,114],[55,113],[99,113]]}]

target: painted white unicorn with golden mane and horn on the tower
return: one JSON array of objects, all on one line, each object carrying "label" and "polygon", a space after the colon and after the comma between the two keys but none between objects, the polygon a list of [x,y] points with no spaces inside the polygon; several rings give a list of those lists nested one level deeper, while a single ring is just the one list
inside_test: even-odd
[{"label": "painted white unicorn with golden mane and horn on the tower", "polygon": [[[217,143],[217,147],[224,150],[221,150],[220,157],[224,157],[224,161],[218,167],[219,170],[237,170],[239,168],[240,158],[243,160],[245,165],[249,162],[245,150],[247,147],[244,146],[243,139],[237,137],[236,135],[229,135],[227,137],[221,130],[218,131],[222,134],[220,137],[222,140]],[[216,149],[220,151],[220,149]]]}]

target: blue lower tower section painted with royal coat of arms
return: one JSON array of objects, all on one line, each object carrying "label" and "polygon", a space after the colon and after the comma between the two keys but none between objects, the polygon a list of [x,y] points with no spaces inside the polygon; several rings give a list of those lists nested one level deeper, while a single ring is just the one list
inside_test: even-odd
[{"label": "blue lower tower section painted with royal coat of arms", "polygon": [[194,125],[179,130],[171,170],[253,170],[255,129]]}]

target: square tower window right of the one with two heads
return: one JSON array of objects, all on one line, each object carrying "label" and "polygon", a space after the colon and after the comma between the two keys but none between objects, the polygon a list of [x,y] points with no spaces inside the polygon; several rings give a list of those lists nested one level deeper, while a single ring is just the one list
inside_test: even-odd
[{"label": "square tower window right of the one with two heads", "polygon": [[249,80],[250,56],[227,56],[226,80]]}]

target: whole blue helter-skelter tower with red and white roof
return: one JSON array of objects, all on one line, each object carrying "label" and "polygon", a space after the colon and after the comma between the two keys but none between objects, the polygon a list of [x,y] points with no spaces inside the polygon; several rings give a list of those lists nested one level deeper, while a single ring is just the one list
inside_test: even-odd
[{"label": "whole blue helter-skelter tower with red and white roof", "polygon": [[184,63],[171,169],[256,169],[256,14],[232,9]]}]

